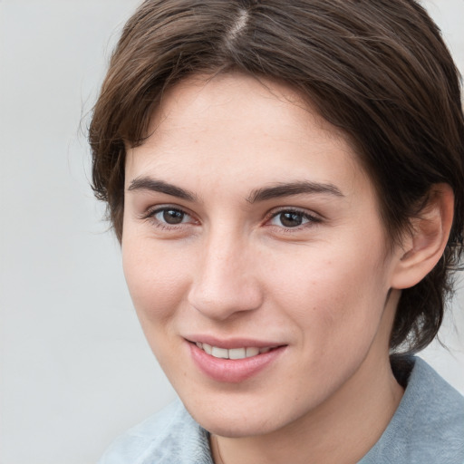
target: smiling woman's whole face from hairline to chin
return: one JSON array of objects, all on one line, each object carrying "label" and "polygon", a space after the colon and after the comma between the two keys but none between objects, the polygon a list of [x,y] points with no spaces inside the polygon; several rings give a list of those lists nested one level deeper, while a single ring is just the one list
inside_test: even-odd
[{"label": "smiling woman's whole face from hairline to chin", "polygon": [[333,127],[265,83],[182,82],[126,164],[140,323],[190,413],[230,437],[359,395],[388,362],[394,314],[369,178]]}]

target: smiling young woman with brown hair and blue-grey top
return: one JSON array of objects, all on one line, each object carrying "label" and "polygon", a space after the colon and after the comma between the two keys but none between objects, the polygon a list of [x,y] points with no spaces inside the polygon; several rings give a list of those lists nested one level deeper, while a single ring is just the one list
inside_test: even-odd
[{"label": "smiling young woman with brown hair and blue-grey top", "polygon": [[148,0],[90,140],[180,399],[102,463],[464,462],[464,401],[411,356],[464,199],[458,75],[420,5]]}]

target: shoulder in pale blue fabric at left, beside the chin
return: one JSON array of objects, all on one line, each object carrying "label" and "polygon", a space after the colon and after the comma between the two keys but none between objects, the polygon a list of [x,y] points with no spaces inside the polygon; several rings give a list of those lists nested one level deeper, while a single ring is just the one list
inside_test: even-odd
[{"label": "shoulder in pale blue fabric at left, beside the chin", "polygon": [[116,439],[98,464],[212,464],[208,432],[178,400]]}]

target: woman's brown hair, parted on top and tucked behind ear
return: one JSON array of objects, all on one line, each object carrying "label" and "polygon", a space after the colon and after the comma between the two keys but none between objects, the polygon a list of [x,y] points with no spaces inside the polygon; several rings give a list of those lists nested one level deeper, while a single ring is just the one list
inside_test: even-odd
[{"label": "woman's brown hair, parted on top and tucked behind ear", "polygon": [[413,0],[147,0],[125,25],[93,111],[93,189],[122,236],[125,143],[143,142],[163,92],[195,73],[286,82],[352,141],[395,241],[433,184],[455,195],[448,246],[402,292],[391,348],[437,334],[459,263],[464,118],[459,73]]}]

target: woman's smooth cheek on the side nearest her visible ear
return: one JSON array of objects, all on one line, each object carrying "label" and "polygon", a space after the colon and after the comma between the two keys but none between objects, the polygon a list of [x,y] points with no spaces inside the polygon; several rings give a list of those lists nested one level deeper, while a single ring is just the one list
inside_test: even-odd
[{"label": "woman's smooth cheek on the side nearest her visible ear", "polygon": [[293,259],[282,256],[280,266],[268,266],[267,288],[304,343],[315,346],[317,340],[326,349],[362,342],[377,329],[388,291],[382,256],[354,244],[348,249],[299,251]]}]

